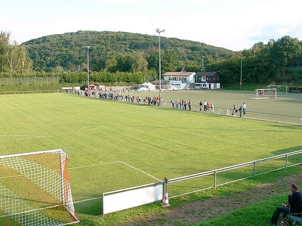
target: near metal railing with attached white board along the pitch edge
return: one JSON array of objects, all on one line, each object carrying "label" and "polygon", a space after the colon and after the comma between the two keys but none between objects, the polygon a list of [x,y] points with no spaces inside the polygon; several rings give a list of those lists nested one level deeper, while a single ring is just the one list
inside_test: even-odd
[{"label": "near metal railing with attached white board along the pitch edge", "polygon": [[[244,179],[256,177],[258,175],[262,175],[262,174],[266,174],[269,172],[273,172],[273,171],[277,171],[277,170],[281,170],[281,169],[287,169],[288,167],[300,165],[300,164],[302,164],[302,155],[300,156],[300,158],[298,158],[298,157],[296,157],[296,155],[298,155],[298,154],[302,154],[302,150],[170,179],[167,184],[169,194],[170,194],[169,198],[176,198],[179,196],[195,193],[198,191],[202,191],[202,190],[206,190],[206,189],[210,189],[210,188],[216,188],[218,186],[222,186],[225,184],[234,183],[234,182],[241,181]],[[291,156],[295,156],[295,158],[290,159]],[[284,159],[282,160],[282,158],[284,158]],[[268,166],[261,165],[266,162],[273,162],[273,163],[271,163]],[[244,167],[250,167],[250,168],[248,168],[248,170],[246,170],[246,169],[243,170]],[[230,171],[232,171],[232,170],[241,170],[241,172],[235,172],[235,173],[231,172],[231,174],[229,174],[229,175],[226,175],[226,176],[224,175],[224,177],[221,176],[222,173],[225,173],[225,172],[230,173]],[[230,175],[232,175],[231,179],[229,179]],[[233,177],[234,175],[236,176],[236,178]],[[206,176],[210,176],[210,177],[206,177]],[[222,182],[219,182],[220,177],[222,177],[222,179],[223,179]],[[205,181],[198,180],[200,178],[205,178]],[[197,181],[196,181],[196,179],[197,179]],[[186,183],[186,184],[180,184],[180,183]],[[102,198],[103,198],[103,215],[108,212],[114,212],[114,211],[118,211],[118,210],[122,210],[122,209],[126,209],[126,208],[131,208],[134,206],[143,205],[143,204],[147,204],[150,202],[162,200],[163,196],[164,196],[163,194],[166,192],[165,184],[166,184],[165,181],[160,181],[160,182],[152,183],[152,184],[145,184],[145,185],[140,185],[140,186],[131,187],[131,188],[104,192],[103,196],[102,196]],[[157,186],[159,186],[160,190],[158,190],[157,195],[155,195],[156,192],[155,191],[151,192],[149,189],[155,188]],[[188,188],[188,187],[195,188],[195,189],[193,189],[191,191],[187,191],[186,188]],[[177,189],[175,190],[174,188],[177,188]],[[196,189],[196,188],[198,188],[198,189]],[[148,189],[148,190],[143,191],[142,189]],[[139,195],[137,195],[138,192],[140,192]],[[178,194],[171,195],[171,193],[173,194],[175,192],[178,192]],[[109,199],[109,201],[106,202],[107,203],[106,208],[109,208],[109,210],[106,209],[106,211],[104,211],[104,207],[105,207],[104,199],[106,196],[112,196],[112,195],[117,195],[118,198]],[[135,197],[132,197],[133,195]],[[124,207],[119,206],[119,203],[121,203],[121,199],[125,199],[125,200],[129,201],[129,200],[133,200],[133,199],[137,198],[136,196],[140,197],[138,200],[138,203],[129,204],[128,207],[127,207],[127,205],[125,205]],[[148,198],[144,198],[144,197],[148,197]],[[150,199],[150,197],[151,197],[151,199]],[[150,201],[152,199],[153,199],[153,201]],[[131,201],[129,201],[129,203],[131,203]]]}]

